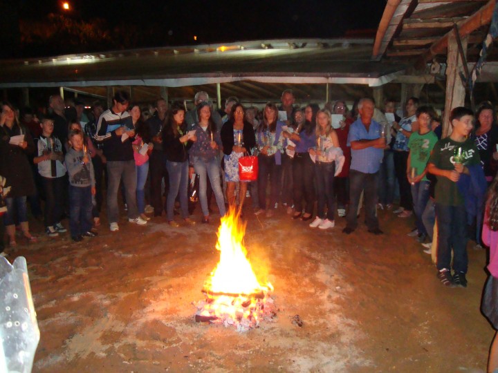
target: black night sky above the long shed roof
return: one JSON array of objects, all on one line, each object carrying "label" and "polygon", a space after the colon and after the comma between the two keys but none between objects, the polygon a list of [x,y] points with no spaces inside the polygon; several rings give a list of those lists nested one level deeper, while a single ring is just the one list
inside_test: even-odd
[{"label": "black night sky above the long shed roof", "polygon": [[[374,37],[386,4],[385,0],[69,0],[71,10],[65,12],[62,2],[0,0],[0,10],[8,3],[14,8],[13,17],[0,12],[3,27],[10,21],[12,29],[16,14],[21,25],[23,42],[20,48],[16,44],[12,53],[28,56],[277,38]],[[33,32],[50,30],[50,25],[57,24],[49,18],[50,13],[58,17],[56,21],[71,21],[67,30],[55,26],[61,30],[58,35],[54,35],[55,30],[47,31],[57,41],[50,40],[50,35],[33,37]],[[71,32],[78,32],[75,24],[91,25],[93,31],[77,41],[79,36],[71,36]]]}]

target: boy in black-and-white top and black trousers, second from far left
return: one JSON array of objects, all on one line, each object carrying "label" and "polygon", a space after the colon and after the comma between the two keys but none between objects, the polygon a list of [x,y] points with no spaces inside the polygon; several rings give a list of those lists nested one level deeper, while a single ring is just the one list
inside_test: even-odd
[{"label": "boy in black-and-white top and black trousers, second from far left", "polygon": [[53,136],[53,119],[43,118],[40,126],[42,135],[37,141],[37,157],[33,162],[38,165],[45,191],[45,231],[47,236],[56,237],[59,233],[66,232],[60,222],[62,216],[60,199],[64,195],[66,167],[62,163],[64,161],[62,144]]}]

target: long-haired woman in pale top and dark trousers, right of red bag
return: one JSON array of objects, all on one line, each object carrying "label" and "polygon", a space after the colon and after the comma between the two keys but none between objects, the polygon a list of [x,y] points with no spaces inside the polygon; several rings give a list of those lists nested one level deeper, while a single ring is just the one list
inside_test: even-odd
[{"label": "long-haired woman in pale top and dark trousers, right of red bag", "polygon": [[[282,126],[285,124],[278,120],[278,109],[273,103],[268,102],[263,111],[263,122],[257,130],[257,146],[259,148],[258,163],[258,198],[259,210],[256,215],[266,211],[266,217],[273,216],[273,209],[277,204],[280,176],[282,175]],[[266,185],[270,178],[270,206],[266,209]]]}]

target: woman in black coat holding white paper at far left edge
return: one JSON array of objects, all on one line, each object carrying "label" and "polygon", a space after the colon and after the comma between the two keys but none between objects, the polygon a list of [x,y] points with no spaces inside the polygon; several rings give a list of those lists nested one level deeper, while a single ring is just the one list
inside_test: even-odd
[{"label": "woman in black coat holding white paper at far left edge", "polygon": [[[26,198],[35,193],[35,182],[33,173],[28,162],[28,154],[35,151],[35,144],[29,131],[19,123],[15,114],[15,108],[9,102],[1,103],[0,114],[0,175],[6,178],[5,187],[11,187],[6,195],[7,213],[3,216],[10,246],[15,246],[15,216],[21,224],[21,230],[25,238],[35,242],[36,238],[31,236],[28,224]],[[12,144],[11,138],[24,135],[21,142]]]}]

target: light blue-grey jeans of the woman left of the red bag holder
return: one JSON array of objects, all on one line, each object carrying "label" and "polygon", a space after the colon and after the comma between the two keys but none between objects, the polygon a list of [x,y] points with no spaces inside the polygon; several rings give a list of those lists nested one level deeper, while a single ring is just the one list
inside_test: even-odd
[{"label": "light blue-grey jeans of the woman left of the red bag holder", "polygon": [[216,204],[220,215],[225,215],[225,201],[223,200],[223,191],[221,190],[220,182],[220,162],[218,157],[214,157],[212,160],[205,161],[201,157],[194,157],[194,170],[199,174],[199,200],[201,200],[201,209],[204,216],[209,216],[208,209],[208,180],[206,175],[209,177],[211,182],[212,191],[214,193],[214,198],[216,198]]}]

